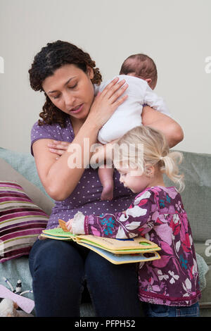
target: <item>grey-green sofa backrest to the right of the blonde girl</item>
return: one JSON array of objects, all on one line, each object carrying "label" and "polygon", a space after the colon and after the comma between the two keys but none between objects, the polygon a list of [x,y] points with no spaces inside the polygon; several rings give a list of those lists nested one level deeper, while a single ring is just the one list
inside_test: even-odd
[{"label": "grey-green sofa backrest to the right of the blonde girl", "polygon": [[[211,239],[211,155],[186,151],[182,154],[184,161],[179,168],[185,177],[186,187],[181,192],[184,208],[194,241],[205,242]],[[165,184],[174,185],[167,177]]]}]

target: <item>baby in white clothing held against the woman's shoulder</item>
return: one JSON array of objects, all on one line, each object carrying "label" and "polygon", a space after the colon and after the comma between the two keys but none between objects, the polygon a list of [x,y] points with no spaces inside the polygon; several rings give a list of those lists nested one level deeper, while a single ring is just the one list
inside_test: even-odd
[{"label": "baby in white clothing held against the woman's shoulder", "polygon": [[[129,56],[122,63],[120,75],[117,77],[120,80],[124,79],[129,85],[124,92],[128,97],[99,130],[98,142],[101,144],[119,139],[129,130],[141,125],[141,113],[144,105],[151,106],[156,111],[170,116],[162,98],[153,92],[157,84],[158,73],[152,58],[145,54]],[[102,92],[109,82],[110,80],[103,82],[100,86],[95,86],[96,94]],[[113,168],[106,167],[104,164],[100,165],[98,176],[103,185],[101,200],[113,199]]]}]

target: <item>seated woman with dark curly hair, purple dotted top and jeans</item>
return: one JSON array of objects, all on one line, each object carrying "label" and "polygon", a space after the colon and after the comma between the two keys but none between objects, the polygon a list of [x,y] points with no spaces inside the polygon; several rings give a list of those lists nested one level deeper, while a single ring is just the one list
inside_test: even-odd
[{"label": "seated woman with dark curly hair, purple dotted top and jeans", "polygon": [[[56,227],[58,218],[67,221],[76,211],[123,211],[132,194],[120,186],[115,172],[113,201],[100,200],[97,170],[86,168],[91,158],[86,143],[91,146],[97,141],[98,130],[124,102],[124,81],[113,80],[95,97],[94,84],[101,82],[101,74],[94,61],[77,46],[61,41],[42,48],[29,73],[32,89],[46,96],[42,121],[32,127],[32,154],[46,192],[56,200],[47,228]],[[170,146],[182,139],[174,120],[149,107],[143,110],[142,120],[143,125],[163,130]],[[79,146],[82,166],[71,166],[73,151],[66,149],[66,143],[64,149],[58,145],[56,154],[51,153],[53,140]],[[32,247],[30,271],[37,316],[79,316],[85,285],[96,316],[141,316],[134,263],[115,266],[74,242],[45,239]]]}]

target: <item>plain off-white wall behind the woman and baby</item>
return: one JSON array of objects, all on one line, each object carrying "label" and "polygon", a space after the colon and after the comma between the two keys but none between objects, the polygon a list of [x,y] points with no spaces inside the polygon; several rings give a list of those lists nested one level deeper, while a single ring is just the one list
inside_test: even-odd
[{"label": "plain off-white wall behind the woman and baby", "polygon": [[151,56],[155,91],[184,129],[177,149],[211,153],[210,13],[210,0],[1,0],[0,146],[30,151],[44,96],[27,71],[42,46],[62,39],[88,51],[104,79],[130,54]]}]

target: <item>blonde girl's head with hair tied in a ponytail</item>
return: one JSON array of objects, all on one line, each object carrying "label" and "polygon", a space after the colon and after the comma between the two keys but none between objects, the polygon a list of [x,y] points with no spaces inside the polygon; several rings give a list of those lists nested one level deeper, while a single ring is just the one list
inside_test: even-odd
[{"label": "blonde girl's head with hair tied in a ponytail", "polygon": [[123,171],[129,180],[126,182],[129,184],[124,186],[132,189],[135,185],[133,192],[141,192],[146,187],[159,185],[156,182],[160,181],[164,173],[179,185],[179,191],[182,191],[184,175],[179,175],[178,168],[182,158],[181,153],[170,152],[162,132],[153,127],[139,126],[117,141],[113,163],[120,174]]}]

